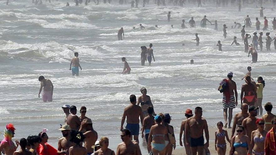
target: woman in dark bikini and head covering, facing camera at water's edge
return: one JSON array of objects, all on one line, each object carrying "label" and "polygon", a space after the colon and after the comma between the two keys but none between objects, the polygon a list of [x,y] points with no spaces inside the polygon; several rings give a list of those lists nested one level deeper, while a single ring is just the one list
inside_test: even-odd
[{"label": "woman in dark bikini and head covering, facing camera at water's edge", "polygon": [[[140,103],[141,103],[142,111],[144,113],[144,116],[146,117],[146,116],[148,116],[148,112],[147,112],[148,107],[149,106],[153,107],[153,105],[151,103],[151,97],[146,95],[146,93],[147,93],[146,88],[142,87],[140,91],[141,91],[142,95],[139,96],[138,101],[137,101],[137,105],[139,106]],[[153,115],[154,116],[156,115],[154,110],[153,110]]]}]

